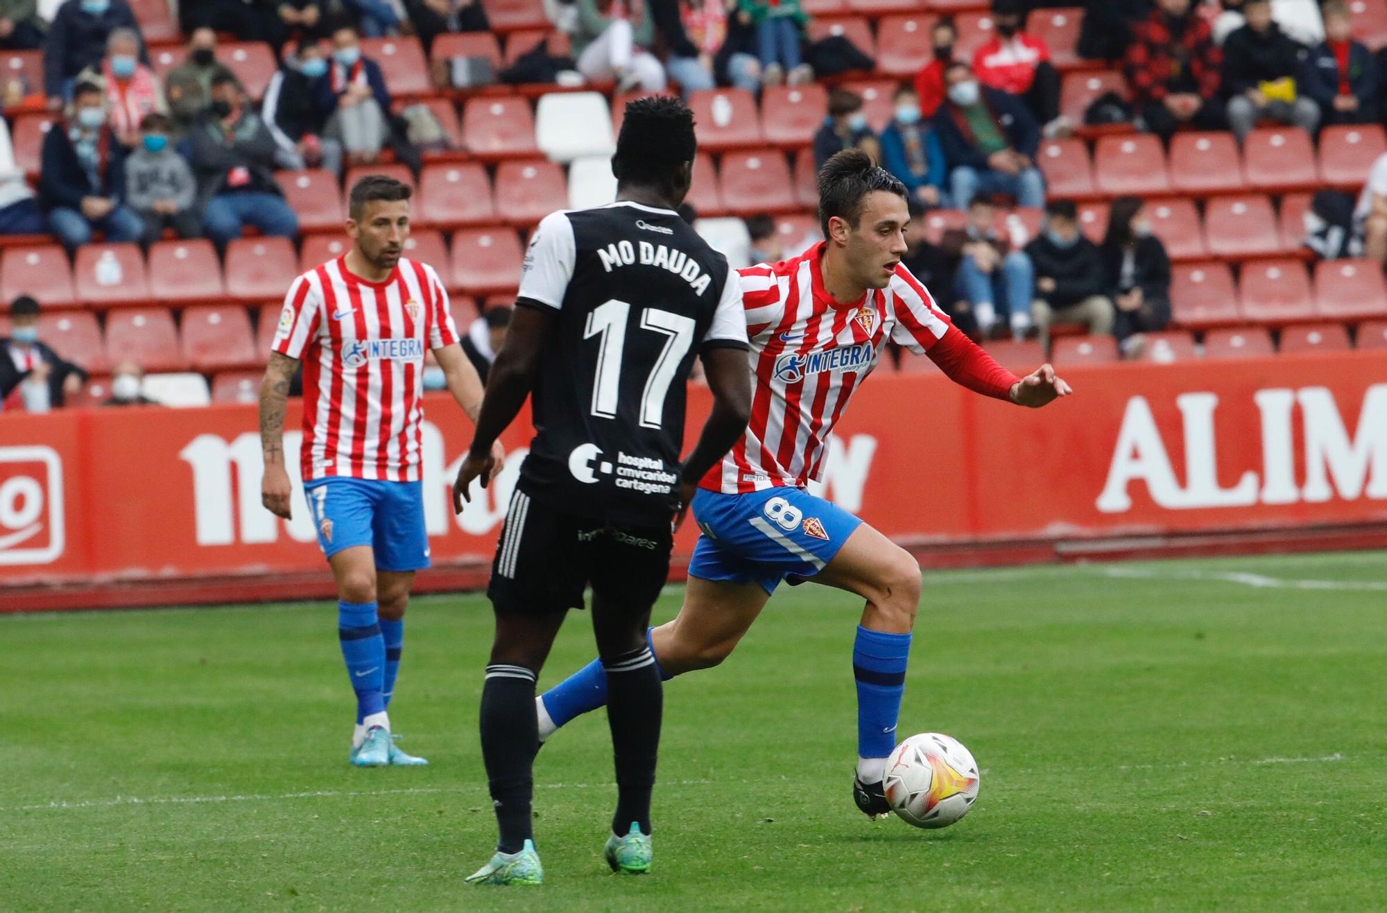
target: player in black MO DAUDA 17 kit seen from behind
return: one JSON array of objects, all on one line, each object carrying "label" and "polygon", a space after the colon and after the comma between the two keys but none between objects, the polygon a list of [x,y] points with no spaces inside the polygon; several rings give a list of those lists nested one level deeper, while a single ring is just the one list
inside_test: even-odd
[{"label": "player in black MO DAUDA 17 kit seen from behind", "polygon": [[[501,838],[467,878],[474,884],[544,880],[531,828],[534,684],[588,584],[616,755],[605,855],[613,871],[651,867],[662,688],[645,630],[669,576],[670,522],[741,437],[752,397],[736,272],[674,212],[695,151],[694,115],[682,103],[632,101],[612,157],[617,201],[540,223],[458,473],[460,511],[472,480],[487,481],[491,441],[533,391],[535,437],[487,594],[497,634],[481,691],[481,756]],[[713,412],[681,465],[695,355]]]}]

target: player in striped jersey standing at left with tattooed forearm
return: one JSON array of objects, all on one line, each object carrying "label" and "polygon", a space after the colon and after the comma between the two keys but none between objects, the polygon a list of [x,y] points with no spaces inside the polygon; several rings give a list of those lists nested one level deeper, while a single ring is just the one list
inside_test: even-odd
[{"label": "player in striped jersey standing at left with tattooed forearm", "polygon": [[[290,286],[261,386],[261,501],[284,519],[284,405],[304,364],[301,468],[318,543],[337,583],[337,637],[356,726],[351,763],[423,765],[390,733],[390,706],[415,572],[429,566],[420,481],[424,351],[476,419],[481,380],[458,343],[431,266],[404,258],[411,189],[370,175],[351,189],[352,247]],[[499,448],[491,455],[501,459]]]}]

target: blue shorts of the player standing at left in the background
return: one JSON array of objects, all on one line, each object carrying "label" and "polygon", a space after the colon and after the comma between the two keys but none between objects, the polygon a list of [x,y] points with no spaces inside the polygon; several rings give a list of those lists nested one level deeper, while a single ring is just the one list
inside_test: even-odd
[{"label": "blue shorts of the player standing at left in the background", "polygon": [[370,545],[376,570],[429,566],[423,483],[331,477],[307,483],[304,495],[327,558]]}]

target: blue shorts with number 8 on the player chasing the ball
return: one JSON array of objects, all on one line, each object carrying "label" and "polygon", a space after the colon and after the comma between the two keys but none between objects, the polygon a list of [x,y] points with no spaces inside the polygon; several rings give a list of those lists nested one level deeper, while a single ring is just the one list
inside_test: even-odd
[{"label": "blue shorts with number 8 on the player chasing the ball", "polygon": [[694,547],[689,576],[759,583],[775,592],[813,577],[838,555],[861,520],[802,488],[720,494],[699,488],[694,519],[703,530]]}]

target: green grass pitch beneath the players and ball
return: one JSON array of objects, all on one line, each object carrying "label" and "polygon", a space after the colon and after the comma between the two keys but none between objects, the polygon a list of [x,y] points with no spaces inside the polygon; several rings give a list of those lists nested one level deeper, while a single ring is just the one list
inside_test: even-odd
[{"label": "green grass pitch beneath the players and ball", "polygon": [[[0,617],[0,909],[1387,907],[1387,555],[928,573],[900,733],[983,770],[943,831],[852,806],[857,602],[784,588],[666,688],[651,876],[601,859],[605,716],[544,749],[538,889],[462,882],[494,841],[485,601],[411,609],[391,716],[417,770],[347,766],[334,619]],[[577,615],[541,681],[591,652]]]}]

